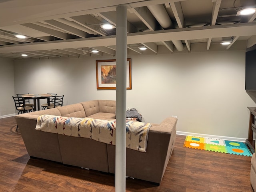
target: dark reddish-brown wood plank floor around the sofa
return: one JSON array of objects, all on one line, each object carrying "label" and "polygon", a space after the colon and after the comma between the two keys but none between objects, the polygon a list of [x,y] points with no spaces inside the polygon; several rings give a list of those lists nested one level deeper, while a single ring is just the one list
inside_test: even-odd
[{"label": "dark reddish-brown wood plank floor around the sofa", "polygon": [[[176,144],[160,186],[127,178],[127,192],[252,192],[251,157]],[[154,165],[152,165],[154,166]],[[27,154],[14,117],[0,119],[0,192],[115,192],[114,175]]]}]

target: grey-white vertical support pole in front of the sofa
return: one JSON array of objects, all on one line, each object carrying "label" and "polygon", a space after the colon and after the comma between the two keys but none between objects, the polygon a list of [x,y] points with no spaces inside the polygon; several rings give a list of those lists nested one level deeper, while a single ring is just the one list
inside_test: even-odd
[{"label": "grey-white vertical support pole in front of the sofa", "polygon": [[116,192],[126,189],[127,8],[116,8]]}]

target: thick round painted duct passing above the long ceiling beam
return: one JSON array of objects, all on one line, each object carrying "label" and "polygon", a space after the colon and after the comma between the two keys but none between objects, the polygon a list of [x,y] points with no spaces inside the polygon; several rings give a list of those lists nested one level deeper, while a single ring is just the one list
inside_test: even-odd
[{"label": "thick round painted duct passing above the long ceiling beam", "polygon": [[[172,20],[170,19],[168,13],[166,12],[163,4],[158,5],[150,5],[147,6],[147,8],[150,10],[152,15],[156,18],[158,23],[162,26],[164,29],[170,29],[173,28]],[[181,40],[172,40],[172,43],[174,44],[176,50],[183,51],[186,46],[184,46],[181,42]]]}]

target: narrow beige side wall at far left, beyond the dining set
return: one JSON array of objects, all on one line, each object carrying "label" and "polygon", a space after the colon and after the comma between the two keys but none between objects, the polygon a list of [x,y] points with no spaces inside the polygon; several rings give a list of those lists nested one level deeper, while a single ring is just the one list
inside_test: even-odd
[{"label": "narrow beige side wall at far left, beyond the dining set", "polygon": [[14,62],[0,58],[0,118],[15,113],[14,101]]}]

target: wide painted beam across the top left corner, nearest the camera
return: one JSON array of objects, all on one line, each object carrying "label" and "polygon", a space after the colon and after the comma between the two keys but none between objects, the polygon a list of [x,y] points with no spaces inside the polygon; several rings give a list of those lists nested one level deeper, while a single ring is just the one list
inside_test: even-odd
[{"label": "wide painted beam across the top left corner, nearest the camera", "polygon": [[[0,26],[35,22],[38,19],[50,20],[95,12],[107,12],[116,10],[117,5],[134,2],[145,2],[145,0],[11,0],[1,4]],[[44,6],[42,6],[42,4]],[[15,14],[10,14],[15,13]],[[8,15],[8,17],[6,17]],[[18,18],[18,19],[17,19]]]}]

